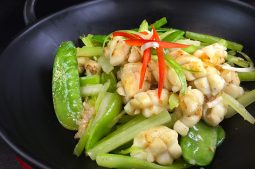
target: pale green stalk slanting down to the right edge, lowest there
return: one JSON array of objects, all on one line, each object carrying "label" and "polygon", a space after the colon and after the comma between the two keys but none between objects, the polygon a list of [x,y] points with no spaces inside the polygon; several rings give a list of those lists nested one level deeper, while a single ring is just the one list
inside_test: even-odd
[{"label": "pale green stalk slanting down to the right edge, lowest there", "polygon": [[235,98],[224,92],[222,93],[222,98],[223,101],[229,106],[231,106],[235,111],[237,111],[237,113],[239,113],[244,118],[244,120],[247,120],[251,124],[255,123],[254,117]]}]

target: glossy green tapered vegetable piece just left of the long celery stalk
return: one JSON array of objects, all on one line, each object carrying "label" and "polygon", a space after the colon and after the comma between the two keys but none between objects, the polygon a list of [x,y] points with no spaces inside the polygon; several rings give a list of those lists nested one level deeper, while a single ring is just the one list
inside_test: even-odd
[{"label": "glossy green tapered vegetable piece just left of the long celery stalk", "polygon": [[120,113],[121,108],[121,97],[116,93],[106,93],[89,128],[86,150],[93,148],[111,130],[117,122],[114,119]]}]

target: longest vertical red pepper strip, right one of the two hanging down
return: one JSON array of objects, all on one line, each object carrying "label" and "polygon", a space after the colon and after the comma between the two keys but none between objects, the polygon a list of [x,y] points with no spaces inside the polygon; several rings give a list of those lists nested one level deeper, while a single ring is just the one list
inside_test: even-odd
[{"label": "longest vertical red pepper strip, right one of the two hanging down", "polygon": [[[156,41],[160,41],[158,33],[154,26],[152,25],[153,35]],[[164,49],[162,46],[159,46],[157,49],[158,54],[158,68],[159,68],[159,80],[158,80],[158,98],[160,98],[162,89],[164,87],[165,81],[165,59],[164,59]]]}]

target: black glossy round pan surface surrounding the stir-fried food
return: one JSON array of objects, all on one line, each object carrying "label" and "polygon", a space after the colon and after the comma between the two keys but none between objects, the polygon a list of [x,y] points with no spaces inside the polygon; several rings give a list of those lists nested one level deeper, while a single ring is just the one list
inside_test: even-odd
[{"label": "black glossy round pan surface surrounding the stir-fried food", "polygon": [[[109,0],[70,8],[43,20],[16,39],[0,57],[1,131],[19,154],[38,166],[96,168],[88,158],[72,155],[73,133],[62,128],[54,115],[51,69],[61,41],[75,40],[83,33],[128,29],[144,18],[154,21],[167,16],[171,27],[223,36],[243,43],[249,54],[255,54],[254,11],[227,1]],[[254,168],[254,127],[238,116],[223,126],[227,139],[209,168]]]}]

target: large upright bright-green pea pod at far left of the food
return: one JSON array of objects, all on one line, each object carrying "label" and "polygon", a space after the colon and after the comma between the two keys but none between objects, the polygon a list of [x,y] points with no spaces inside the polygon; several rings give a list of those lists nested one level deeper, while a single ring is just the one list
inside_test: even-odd
[{"label": "large upright bright-green pea pod at far left of the food", "polygon": [[83,111],[76,48],[70,41],[58,48],[53,66],[52,95],[56,116],[67,129],[76,130]]}]

